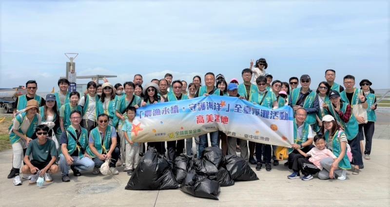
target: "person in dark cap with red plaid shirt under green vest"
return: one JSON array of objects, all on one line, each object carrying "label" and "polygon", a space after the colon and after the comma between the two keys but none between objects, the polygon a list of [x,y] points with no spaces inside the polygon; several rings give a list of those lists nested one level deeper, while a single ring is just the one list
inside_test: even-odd
[{"label": "person in dark cap with red plaid shirt under green vest", "polygon": [[[351,81],[351,80],[349,80]],[[348,88],[346,88],[348,90]],[[343,91],[344,92],[344,91]],[[363,103],[364,96],[359,97],[359,102]],[[353,163],[355,168],[352,174],[359,174],[359,168],[363,168],[362,151],[360,150],[359,138],[357,138],[359,132],[359,126],[357,118],[352,114],[351,104],[343,101],[340,98],[340,94],[336,90],[329,92],[328,111],[334,117],[336,122],[345,130],[347,134],[348,144],[351,146],[351,152],[353,156]],[[364,100],[366,102],[366,100]],[[366,104],[367,103],[363,103]],[[362,104],[362,105],[363,105]],[[364,107],[364,105],[363,105]]]}]

